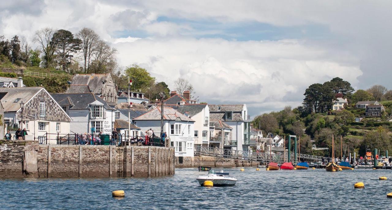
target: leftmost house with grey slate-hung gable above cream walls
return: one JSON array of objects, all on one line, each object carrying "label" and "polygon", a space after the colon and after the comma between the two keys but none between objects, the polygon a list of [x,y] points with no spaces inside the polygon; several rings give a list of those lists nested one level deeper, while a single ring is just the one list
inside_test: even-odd
[{"label": "leftmost house with grey slate-hung gable above cream walls", "polygon": [[0,98],[5,124],[26,128],[40,144],[46,144],[46,138],[56,144],[58,133],[69,134],[71,118],[45,88],[0,88]]}]

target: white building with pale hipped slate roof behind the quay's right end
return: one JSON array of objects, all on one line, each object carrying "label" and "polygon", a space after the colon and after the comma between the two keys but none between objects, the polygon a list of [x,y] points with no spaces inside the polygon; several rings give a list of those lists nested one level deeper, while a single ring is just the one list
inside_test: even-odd
[{"label": "white building with pale hipped slate roof behind the quay's right end", "polygon": [[[156,107],[147,113],[133,118],[135,126],[142,132],[152,129],[155,135],[162,136],[161,108]],[[193,157],[194,153],[194,120],[170,107],[163,108],[163,132],[170,138],[170,145],[175,148],[178,157]]]}]

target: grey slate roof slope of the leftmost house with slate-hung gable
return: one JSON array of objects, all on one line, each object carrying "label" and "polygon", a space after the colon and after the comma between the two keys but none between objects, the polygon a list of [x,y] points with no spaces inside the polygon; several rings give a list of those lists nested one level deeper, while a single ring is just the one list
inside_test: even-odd
[{"label": "grey slate roof slope of the leftmost house with slate-hung gable", "polygon": [[0,88],[0,99],[4,111],[18,111],[20,102],[27,103],[36,93],[40,92],[43,87],[23,87],[23,88]]}]

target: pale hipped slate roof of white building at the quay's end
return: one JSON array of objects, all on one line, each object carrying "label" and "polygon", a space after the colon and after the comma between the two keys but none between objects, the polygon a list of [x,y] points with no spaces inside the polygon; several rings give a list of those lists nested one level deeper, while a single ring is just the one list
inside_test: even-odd
[{"label": "pale hipped slate roof of white building at the quay's end", "polygon": [[[161,108],[156,107],[151,109],[147,113],[134,118],[133,120],[161,120]],[[163,109],[163,120],[176,120],[179,117],[181,121],[195,122],[189,117],[181,114],[180,112],[174,110],[173,108],[166,107]]]}]

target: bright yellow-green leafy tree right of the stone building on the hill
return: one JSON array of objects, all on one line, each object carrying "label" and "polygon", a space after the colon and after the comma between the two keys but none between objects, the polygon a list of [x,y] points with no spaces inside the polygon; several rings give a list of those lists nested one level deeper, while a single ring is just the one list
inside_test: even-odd
[{"label": "bright yellow-green leafy tree right of the stone building on the hill", "polygon": [[146,87],[151,88],[155,82],[155,77],[151,77],[145,68],[136,64],[133,64],[125,70],[125,76],[129,76],[132,79],[131,89],[134,91],[139,91]]}]

